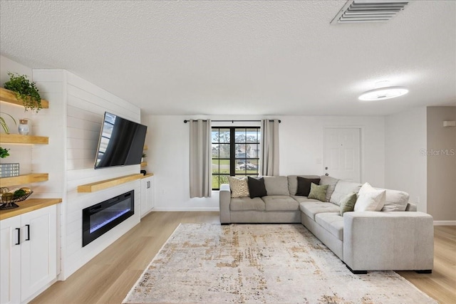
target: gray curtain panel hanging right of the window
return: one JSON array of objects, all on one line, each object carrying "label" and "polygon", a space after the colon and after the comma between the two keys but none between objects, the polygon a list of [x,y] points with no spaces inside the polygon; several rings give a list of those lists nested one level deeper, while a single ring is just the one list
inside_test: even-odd
[{"label": "gray curtain panel hanging right of the window", "polygon": [[279,175],[279,120],[261,120],[261,172]]}]

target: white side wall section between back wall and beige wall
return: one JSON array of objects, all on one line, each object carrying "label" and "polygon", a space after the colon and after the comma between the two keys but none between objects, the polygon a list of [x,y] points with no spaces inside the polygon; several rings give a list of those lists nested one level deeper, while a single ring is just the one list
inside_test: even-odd
[{"label": "white side wall section between back wall and beige wall", "polygon": [[385,187],[410,194],[427,211],[426,108],[385,117]]}]

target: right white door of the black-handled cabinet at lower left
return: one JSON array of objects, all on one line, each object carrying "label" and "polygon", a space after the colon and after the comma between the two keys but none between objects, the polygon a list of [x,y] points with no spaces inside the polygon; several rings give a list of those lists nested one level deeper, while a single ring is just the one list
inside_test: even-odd
[{"label": "right white door of the black-handled cabinet at lower left", "polygon": [[57,207],[48,206],[21,216],[21,301],[57,276]]}]

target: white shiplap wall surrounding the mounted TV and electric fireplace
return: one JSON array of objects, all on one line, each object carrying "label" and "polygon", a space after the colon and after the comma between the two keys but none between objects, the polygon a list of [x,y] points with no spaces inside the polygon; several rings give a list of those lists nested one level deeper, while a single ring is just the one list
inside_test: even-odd
[{"label": "white shiplap wall surrounding the mounted TV and electric fireplace", "polygon": [[[77,191],[81,184],[140,172],[139,164],[93,169],[104,112],[112,112],[140,122],[140,108],[66,70],[33,70],[33,80],[42,88],[43,97],[49,100],[50,110],[56,107],[56,112],[52,113],[53,117],[48,117],[46,122],[40,121],[39,125],[53,126],[52,134],[48,135],[50,142],[54,140],[58,142],[60,152],[57,154],[63,154],[56,155],[58,159],[63,157],[63,161],[58,161],[56,164],[53,163],[53,154],[49,154],[52,157],[48,163],[43,164],[43,167],[60,167],[59,172],[63,172],[64,175],[60,177],[63,183],[61,189],[64,189],[61,211],[60,278],[66,279],[140,221],[139,180],[100,192],[78,193]],[[54,90],[59,88],[61,92],[54,93]],[[59,105],[53,105],[54,103]],[[53,136],[54,134],[56,136]],[[135,190],[135,215],[82,247],[82,209],[131,189]]]}]

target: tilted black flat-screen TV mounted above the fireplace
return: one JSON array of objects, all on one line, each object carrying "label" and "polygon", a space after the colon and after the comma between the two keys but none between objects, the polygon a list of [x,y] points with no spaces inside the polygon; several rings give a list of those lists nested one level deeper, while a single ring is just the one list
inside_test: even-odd
[{"label": "tilted black flat-screen TV mounted above the fireplace", "polygon": [[147,127],[105,112],[95,169],[140,164]]}]

